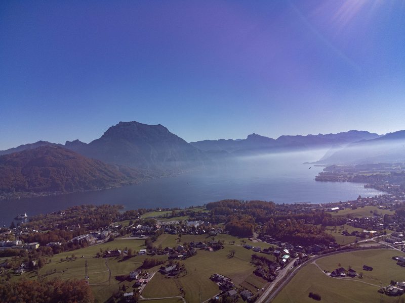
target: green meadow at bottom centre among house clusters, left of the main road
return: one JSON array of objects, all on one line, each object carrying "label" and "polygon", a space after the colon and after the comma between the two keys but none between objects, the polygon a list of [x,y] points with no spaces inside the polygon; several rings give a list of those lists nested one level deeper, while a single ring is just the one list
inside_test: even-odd
[{"label": "green meadow at bottom centre among house clusters, left of the main road", "polygon": [[[167,235],[164,241],[171,241],[175,236]],[[225,248],[219,251],[197,250],[197,255],[182,261],[187,269],[187,274],[183,277],[173,279],[165,278],[157,273],[153,279],[145,287],[142,295],[148,297],[164,297],[174,296],[180,293],[180,287],[185,290],[185,299],[187,302],[198,302],[198,297],[195,296],[201,288],[203,300],[220,292],[218,285],[210,280],[210,276],[214,273],[225,275],[232,279],[235,284],[245,286],[254,293],[257,288],[263,287],[266,283],[263,279],[253,275],[254,266],[250,264],[253,250],[246,249],[240,245],[240,240],[230,235],[218,235],[216,240],[223,240]],[[206,235],[183,235],[182,242],[211,240],[211,237]],[[268,247],[267,243],[259,242],[252,243],[247,239],[243,239],[252,245]],[[235,241],[235,244],[229,242]],[[229,250],[235,250],[235,256],[228,258]],[[259,253],[257,253],[259,254]],[[263,255],[274,260],[274,256]],[[253,287],[254,285],[254,287]],[[255,288],[257,287],[257,288]]]}]

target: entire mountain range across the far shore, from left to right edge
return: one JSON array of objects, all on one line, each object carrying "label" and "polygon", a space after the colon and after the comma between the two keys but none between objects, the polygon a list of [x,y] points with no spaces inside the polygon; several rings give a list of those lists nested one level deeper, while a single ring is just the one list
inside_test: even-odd
[{"label": "entire mountain range across the far shore, from left to right edge", "polygon": [[405,131],[378,135],[280,136],[187,143],[166,127],[119,122],[98,139],[38,141],[0,151],[0,192],[70,192],[136,183],[201,168],[229,157],[329,148],[325,164],[405,162]]}]

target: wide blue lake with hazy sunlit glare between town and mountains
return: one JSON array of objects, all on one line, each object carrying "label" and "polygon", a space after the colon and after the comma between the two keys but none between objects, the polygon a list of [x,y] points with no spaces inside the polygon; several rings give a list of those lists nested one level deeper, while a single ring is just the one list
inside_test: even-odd
[{"label": "wide blue lake with hazy sunlit glare between town and mountains", "polygon": [[81,204],[122,204],[126,209],[188,207],[226,198],[275,203],[328,203],[380,194],[360,183],[316,182],[322,167],[303,164],[320,159],[322,151],[227,160],[205,170],[154,179],[138,185],[56,196],[0,201],[0,226],[17,214],[33,216]]}]

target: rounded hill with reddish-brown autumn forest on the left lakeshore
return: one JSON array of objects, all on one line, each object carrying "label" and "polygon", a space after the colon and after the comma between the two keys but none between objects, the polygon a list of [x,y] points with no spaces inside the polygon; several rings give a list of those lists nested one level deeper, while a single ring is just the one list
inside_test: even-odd
[{"label": "rounded hill with reddish-brown autumn forest on the left lakeshore", "polygon": [[43,145],[0,156],[0,191],[6,193],[94,190],[144,178],[60,146]]}]

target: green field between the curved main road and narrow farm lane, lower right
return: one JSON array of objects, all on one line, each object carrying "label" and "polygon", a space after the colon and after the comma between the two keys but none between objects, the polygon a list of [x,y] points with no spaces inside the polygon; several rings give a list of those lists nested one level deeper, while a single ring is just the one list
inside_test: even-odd
[{"label": "green field between the curved main road and narrow farm lane, lower right", "polygon": [[[396,265],[392,257],[401,255],[393,249],[372,249],[363,251],[344,252],[342,254],[329,256],[316,260],[316,264],[322,270],[333,271],[339,264],[346,270],[349,266],[357,273],[363,273],[362,281],[386,286],[391,280],[402,281],[405,277],[403,267]],[[372,271],[362,269],[363,265],[373,267]],[[356,278],[357,279],[357,278]]]}]

